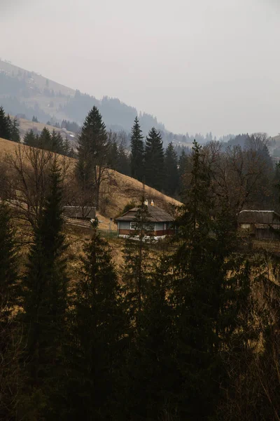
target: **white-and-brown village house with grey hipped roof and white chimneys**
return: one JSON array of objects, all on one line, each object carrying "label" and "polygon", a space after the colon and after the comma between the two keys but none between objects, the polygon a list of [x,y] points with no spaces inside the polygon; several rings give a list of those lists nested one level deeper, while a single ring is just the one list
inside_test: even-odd
[{"label": "white-and-brown village house with grey hipped roof and white chimneys", "polygon": [[[155,239],[165,238],[167,235],[174,234],[173,222],[174,218],[165,210],[155,206],[154,201],[151,204],[145,202],[148,208],[148,225],[151,227]],[[116,218],[118,223],[118,236],[126,237],[133,234],[134,229],[137,229],[137,211],[139,208],[132,208],[124,213],[119,218]]]}]

